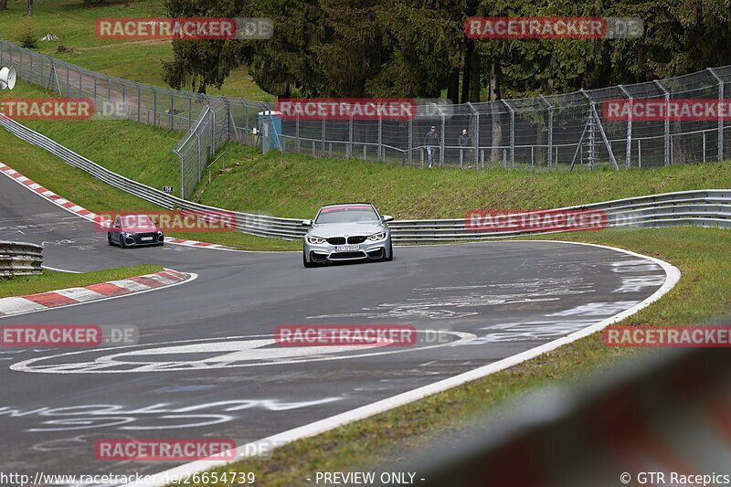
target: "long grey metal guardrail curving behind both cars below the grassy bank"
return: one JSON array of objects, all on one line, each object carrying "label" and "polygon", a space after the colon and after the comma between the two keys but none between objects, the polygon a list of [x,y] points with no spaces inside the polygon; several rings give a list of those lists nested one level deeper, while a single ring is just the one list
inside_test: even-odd
[{"label": "long grey metal guardrail curving behind both cars below the grassy bank", "polygon": [[[220,212],[230,212],[214,206],[200,205],[177,196],[168,195],[148,185],[132,181],[111,172],[99,164],[74,153],[45,135],[0,116],[0,125],[26,142],[58,155],[67,164],[78,167],[97,179],[122,191],[168,209],[207,213],[217,218]],[[557,209],[600,210],[607,215],[607,227],[656,228],[673,226],[700,226],[731,228],[731,189],[702,189],[679,191],[660,195],[637,196],[581,206]],[[299,218],[269,217],[242,212],[235,215],[236,229],[260,237],[298,239],[306,228]],[[398,243],[438,243],[470,241],[486,238],[517,237],[535,234],[528,230],[475,231],[465,227],[464,218],[434,220],[397,220],[388,224],[394,241]],[[566,230],[568,231],[568,230]],[[543,232],[553,233],[553,232]]]}]

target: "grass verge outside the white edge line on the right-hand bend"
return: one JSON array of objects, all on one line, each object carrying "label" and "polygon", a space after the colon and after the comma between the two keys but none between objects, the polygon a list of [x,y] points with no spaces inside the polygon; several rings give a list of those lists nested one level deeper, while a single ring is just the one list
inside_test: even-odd
[{"label": "grass verge outside the white edge line on the right-hand bend", "polygon": [[[550,238],[630,249],[667,260],[682,270],[683,279],[672,291],[621,324],[688,325],[729,314],[731,274],[727,269],[731,266],[731,240],[725,230],[606,230]],[[459,431],[471,418],[503,404],[509,397],[542,386],[575,384],[589,372],[596,373],[620,359],[644,353],[650,352],[606,347],[596,333],[492,376],[295,441],[275,450],[270,460],[239,461],[217,471],[253,471],[259,485],[281,486],[301,485],[314,471],[373,470],[379,464],[408,459],[420,446],[433,446],[430,440]]]}]

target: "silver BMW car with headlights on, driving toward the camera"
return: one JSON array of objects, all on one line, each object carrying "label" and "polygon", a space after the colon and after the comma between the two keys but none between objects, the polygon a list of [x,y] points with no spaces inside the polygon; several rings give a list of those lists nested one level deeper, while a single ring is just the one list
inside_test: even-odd
[{"label": "silver BMW car with headlights on, driving toward the camera", "polygon": [[303,220],[310,228],[304,236],[302,264],[343,260],[391,260],[391,231],[386,222],[394,217],[378,213],[370,203],[345,203],[320,208],[313,220]]}]

